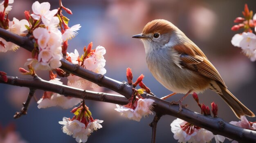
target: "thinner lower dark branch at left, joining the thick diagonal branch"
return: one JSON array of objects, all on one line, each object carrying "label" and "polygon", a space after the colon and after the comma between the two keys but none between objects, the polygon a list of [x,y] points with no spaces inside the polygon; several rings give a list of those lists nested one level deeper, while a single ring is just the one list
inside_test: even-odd
[{"label": "thinner lower dark branch at left, joining the thick diagonal branch", "polygon": [[55,84],[49,81],[45,81],[40,77],[36,77],[34,79],[23,79],[18,77],[7,76],[7,78],[8,78],[8,81],[4,82],[2,80],[2,77],[0,77],[0,83],[10,84],[13,86],[24,86],[30,89],[32,88],[32,89],[51,91],[64,96],[76,97],[80,99],[103,101],[103,102],[116,103],[121,105],[128,103],[128,100],[121,95],[82,90],[79,88],[73,88],[70,86],[65,86],[65,85]]}]

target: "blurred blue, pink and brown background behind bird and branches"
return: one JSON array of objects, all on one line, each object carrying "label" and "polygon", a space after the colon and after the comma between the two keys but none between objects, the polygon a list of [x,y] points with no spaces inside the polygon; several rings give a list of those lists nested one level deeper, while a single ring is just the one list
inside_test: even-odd
[{"label": "blurred blue, pink and brown background behind bird and branches", "polygon": [[[46,0],[38,0],[45,2]],[[23,11],[30,10],[34,0],[14,0],[9,19],[25,19]],[[51,9],[58,8],[58,0],[48,0]],[[256,12],[255,0],[63,0],[63,5],[72,10],[69,26],[81,24],[79,34],[69,41],[68,52],[76,48],[79,53],[83,47],[93,42],[93,48],[101,45],[107,50],[106,76],[119,81],[126,80],[126,68],[132,68],[136,79],[141,73],[145,75],[144,83],[158,97],[171,93],[159,84],[149,72],[144,46],[138,39],[131,36],[141,33],[145,24],[154,19],[166,19],[181,29],[202,51],[211,63],[218,69],[229,90],[249,109],[256,113],[256,63],[251,62],[241,54],[240,48],[231,44],[231,38],[236,32],[231,31],[233,20],[242,16],[244,4]],[[239,31],[242,32],[242,31]],[[7,75],[23,76],[18,68],[31,53],[20,48],[16,52],[0,53],[0,71]],[[48,73],[37,72],[40,77],[49,80]],[[67,80],[62,79],[66,84]],[[22,140],[28,143],[76,143],[61,130],[58,121],[63,117],[73,117],[70,110],[60,108],[38,109],[36,101],[31,101],[28,114],[13,119],[13,114],[22,107],[27,98],[27,88],[0,84],[0,130],[11,123],[16,128]],[[105,88],[95,91],[110,92]],[[37,91],[39,99],[43,91]],[[177,101],[183,95],[175,95],[168,101]],[[210,106],[214,101],[218,104],[219,117],[225,121],[238,121],[227,104],[214,92],[207,90],[199,95],[200,103]],[[200,112],[192,96],[187,97],[184,104],[189,109]],[[153,116],[143,118],[140,122],[130,121],[114,110],[112,103],[86,101],[94,119],[104,120],[103,128],[94,132],[87,143],[148,143],[151,141],[151,128],[148,124]],[[177,142],[173,139],[170,124],[175,117],[164,116],[157,125],[157,143]],[[256,121],[255,118],[247,118]],[[14,126],[13,126],[14,124]],[[17,137],[17,136],[16,136]],[[13,141],[14,142],[14,141]],[[18,142],[18,141],[17,141]],[[214,141],[213,141],[214,142]],[[226,143],[229,141],[225,141]]]}]

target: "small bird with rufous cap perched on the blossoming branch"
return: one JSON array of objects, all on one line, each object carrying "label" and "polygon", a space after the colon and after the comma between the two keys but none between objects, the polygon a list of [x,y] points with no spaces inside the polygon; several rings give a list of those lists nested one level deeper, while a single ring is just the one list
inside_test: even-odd
[{"label": "small bird with rufous cap perched on the blossoming branch", "polygon": [[168,90],[173,91],[162,99],[176,93],[202,93],[208,88],[216,92],[228,104],[236,117],[255,114],[241,103],[225,85],[218,70],[211,64],[200,48],[180,29],[168,20],[148,22],[142,33],[132,36],[141,39],[146,53],[146,63],[153,77]]}]

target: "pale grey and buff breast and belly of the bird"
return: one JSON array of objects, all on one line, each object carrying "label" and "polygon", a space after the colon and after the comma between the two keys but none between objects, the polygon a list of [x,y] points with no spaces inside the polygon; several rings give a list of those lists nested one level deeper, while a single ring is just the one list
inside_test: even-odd
[{"label": "pale grey and buff breast and belly of the bird", "polygon": [[146,53],[150,72],[168,90],[186,94],[191,89],[194,92],[202,92],[209,87],[210,79],[179,66],[178,60],[179,55],[171,48]]}]

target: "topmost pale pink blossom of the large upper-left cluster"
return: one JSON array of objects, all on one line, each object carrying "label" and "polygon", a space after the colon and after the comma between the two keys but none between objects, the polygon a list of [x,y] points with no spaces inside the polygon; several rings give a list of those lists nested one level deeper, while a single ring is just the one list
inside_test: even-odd
[{"label": "topmost pale pink blossom of the large upper-left cluster", "polygon": [[52,11],[50,11],[50,7],[51,5],[49,4],[49,2],[34,2],[32,4],[32,18],[34,18],[34,20],[39,20],[41,18],[42,21],[51,20],[52,17],[57,13],[58,9],[53,9]]}]

